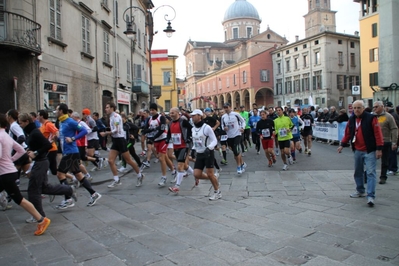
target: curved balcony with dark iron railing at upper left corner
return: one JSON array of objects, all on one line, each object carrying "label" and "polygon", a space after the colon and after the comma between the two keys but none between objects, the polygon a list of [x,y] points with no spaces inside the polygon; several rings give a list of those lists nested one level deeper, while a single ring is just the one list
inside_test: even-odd
[{"label": "curved balcony with dark iron railing at upper left corner", "polygon": [[24,16],[0,11],[0,45],[41,54],[40,24]]}]

